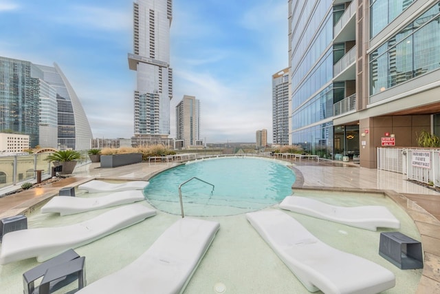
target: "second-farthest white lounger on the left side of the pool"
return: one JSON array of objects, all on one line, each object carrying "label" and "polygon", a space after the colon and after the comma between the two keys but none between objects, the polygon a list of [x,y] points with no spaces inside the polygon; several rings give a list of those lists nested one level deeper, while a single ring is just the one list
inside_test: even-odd
[{"label": "second-farthest white lounger on the left side of the pool", "polygon": [[116,192],[95,198],[55,196],[41,207],[41,212],[60,213],[61,216],[67,216],[69,214],[104,209],[142,200],[145,200],[145,197],[141,190]]}]

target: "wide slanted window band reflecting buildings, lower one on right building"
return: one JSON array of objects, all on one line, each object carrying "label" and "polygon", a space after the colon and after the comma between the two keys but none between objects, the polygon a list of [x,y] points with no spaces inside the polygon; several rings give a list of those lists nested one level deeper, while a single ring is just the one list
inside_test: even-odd
[{"label": "wide slanted window band reflecting buildings, lower one on right building", "polygon": [[437,3],[370,54],[371,95],[440,68],[439,23]]}]

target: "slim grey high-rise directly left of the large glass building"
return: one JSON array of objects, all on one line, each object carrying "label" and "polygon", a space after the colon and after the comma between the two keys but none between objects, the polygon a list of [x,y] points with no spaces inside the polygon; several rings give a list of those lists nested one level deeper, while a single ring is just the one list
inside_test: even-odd
[{"label": "slim grey high-rise directly left of the large glass building", "polygon": [[272,75],[274,145],[289,145],[289,68]]}]

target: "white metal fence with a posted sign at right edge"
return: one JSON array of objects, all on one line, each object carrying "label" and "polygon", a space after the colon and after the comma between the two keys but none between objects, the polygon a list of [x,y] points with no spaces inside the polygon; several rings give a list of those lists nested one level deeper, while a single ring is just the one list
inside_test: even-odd
[{"label": "white metal fence with a posted sign at right edge", "polygon": [[440,150],[377,148],[377,169],[405,174],[408,180],[440,187]]}]

